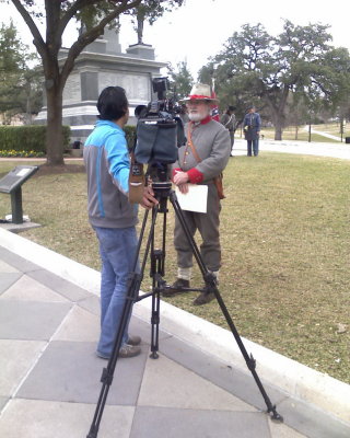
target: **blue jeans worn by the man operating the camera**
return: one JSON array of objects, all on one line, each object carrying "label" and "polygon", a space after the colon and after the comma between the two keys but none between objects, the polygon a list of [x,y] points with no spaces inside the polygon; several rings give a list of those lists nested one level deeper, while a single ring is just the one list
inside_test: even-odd
[{"label": "blue jeans worn by the man operating the camera", "polygon": [[[138,238],[135,227],[94,227],[102,260],[101,273],[101,336],[97,351],[109,356],[119,327],[129,274],[135,269]],[[139,272],[137,264],[136,270]],[[122,335],[122,345],[128,341],[128,325]]]}]

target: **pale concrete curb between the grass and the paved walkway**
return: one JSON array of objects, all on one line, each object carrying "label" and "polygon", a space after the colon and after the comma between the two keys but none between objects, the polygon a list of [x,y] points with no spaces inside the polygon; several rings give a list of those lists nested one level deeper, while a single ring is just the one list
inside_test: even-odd
[{"label": "pale concrete curb between the grass and the paved walkway", "polygon": [[[55,253],[18,234],[0,228],[1,246],[36,265],[65,278],[68,281],[98,296],[101,275],[88,266]],[[135,304],[133,314],[149,322],[151,300]],[[162,330],[195,345],[203,353],[220,360],[234,364],[243,372],[247,366],[229,330],[192,315],[162,301]],[[328,374],[316,371],[295,360],[255,344],[244,337],[242,341],[248,354],[257,359],[257,371],[264,381],[280,388],[288,394],[326,411],[342,422],[350,422],[350,385]]]}]

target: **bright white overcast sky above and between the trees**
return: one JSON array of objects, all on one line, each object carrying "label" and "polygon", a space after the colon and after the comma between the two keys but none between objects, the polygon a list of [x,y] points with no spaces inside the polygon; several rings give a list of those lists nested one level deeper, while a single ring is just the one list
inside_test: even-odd
[{"label": "bright white overcast sky above and between the trees", "polygon": [[[1,12],[8,22],[12,15],[15,25],[28,44],[31,34],[13,7],[1,4]],[[8,16],[7,16],[8,15]],[[185,0],[185,5],[165,14],[152,26],[144,25],[143,42],[155,47],[159,60],[171,61],[174,66],[187,60],[195,79],[210,56],[217,55],[223,43],[240,32],[245,23],[262,23],[271,35],[282,31],[283,19],[294,24],[329,24],[335,46],[350,49],[349,33],[350,1],[293,0],[285,4],[281,0]],[[74,26],[72,26],[74,28]],[[72,30],[63,38],[70,45]],[[122,21],[120,31],[122,50],[137,43],[137,35],[128,21]]]}]

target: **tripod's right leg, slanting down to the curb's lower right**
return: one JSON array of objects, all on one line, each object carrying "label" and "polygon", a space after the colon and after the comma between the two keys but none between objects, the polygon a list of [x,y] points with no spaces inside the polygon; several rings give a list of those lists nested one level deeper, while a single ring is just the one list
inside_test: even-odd
[{"label": "tripod's right leg, slanting down to the curb's lower right", "polygon": [[179,220],[179,222],[180,222],[180,224],[183,227],[183,230],[184,230],[184,232],[186,234],[186,238],[187,238],[187,240],[188,240],[188,242],[189,242],[189,244],[191,246],[191,250],[192,250],[195,258],[196,258],[196,261],[198,263],[199,269],[201,270],[201,274],[202,274],[203,279],[206,281],[208,291],[214,293],[214,296],[215,296],[215,299],[217,299],[217,301],[218,301],[218,303],[220,306],[220,309],[221,309],[221,311],[222,311],[222,313],[223,313],[223,315],[224,315],[224,318],[225,318],[225,320],[228,322],[228,325],[229,325],[229,327],[230,327],[230,330],[231,330],[231,332],[232,332],[232,334],[233,334],[233,336],[234,336],[234,338],[235,338],[235,341],[236,341],[236,343],[237,343],[237,345],[238,345],[238,347],[241,349],[241,353],[242,353],[242,355],[244,357],[244,360],[245,360],[249,371],[252,372],[252,374],[254,377],[254,380],[255,380],[255,382],[256,382],[256,384],[257,384],[257,387],[258,387],[258,389],[259,389],[259,391],[260,391],[260,393],[261,393],[261,395],[264,397],[264,401],[265,401],[266,406],[267,406],[267,412],[271,415],[272,419],[278,420],[278,422],[282,422],[283,417],[276,411],[276,406],[272,405],[272,403],[271,403],[269,396],[267,395],[267,393],[265,391],[265,388],[264,388],[264,385],[262,385],[262,383],[261,383],[261,381],[259,379],[259,376],[256,372],[256,360],[254,359],[254,357],[252,355],[249,356],[247,350],[245,349],[245,346],[244,346],[244,344],[242,342],[242,338],[241,338],[241,336],[240,336],[240,334],[237,332],[237,328],[235,327],[235,325],[234,325],[234,323],[232,321],[232,318],[231,318],[231,315],[229,313],[229,310],[228,310],[228,308],[226,308],[226,306],[225,306],[225,303],[224,303],[224,301],[223,301],[223,299],[222,299],[222,297],[221,297],[221,295],[220,295],[220,292],[218,290],[217,280],[215,280],[214,276],[209,272],[207,266],[205,265],[205,262],[203,262],[203,260],[201,257],[201,254],[200,254],[200,252],[199,252],[199,250],[197,247],[196,241],[195,241],[195,239],[192,238],[192,235],[189,232],[189,229],[188,229],[186,220],[184,218],[182,208],[180,208],[180,206],[178,204],[178,200],[176,198],[175,192],[171,193],[170,199],[171,199],[171,203],[172,203],[172,205],[174,207],[175,214],[176,214],[176,216],[177,216],[177,218],[178,218],[178,220]]}]

